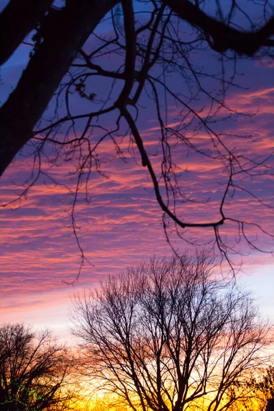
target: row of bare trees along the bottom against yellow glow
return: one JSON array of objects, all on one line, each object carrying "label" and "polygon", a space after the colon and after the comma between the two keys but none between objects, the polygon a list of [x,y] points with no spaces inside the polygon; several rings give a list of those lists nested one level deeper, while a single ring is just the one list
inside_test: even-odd
[{"label": "row of bare trees along the bottom against yellow glow", "polygon": [[271,327],[206,252],[110,276],[71,316],[77,350],[0,327],[1,411],[262,410],[273,397]]}]

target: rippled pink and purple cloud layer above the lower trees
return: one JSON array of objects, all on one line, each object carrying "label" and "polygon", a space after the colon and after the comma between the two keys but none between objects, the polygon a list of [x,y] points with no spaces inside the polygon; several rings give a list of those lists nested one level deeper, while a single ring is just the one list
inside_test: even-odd
[{"label": "rippled pink and purple cloud layer above the lower trees", "polygon": [[[229,148],[238,150],[246,157],[258,160],[269,155],[273,150],[274,88],[258,88],[255,85],[252,90],[234,92],[229,95],[227,104],[245,115],[233,114],[231,119],[214,124],[221,139]],[[181,127],[182,123],[173,118],[178,112],[177,108],[171,108],[169,127]],[[250,113],[257,114],[247,116]],[[202,114],[206,116],[206,109]],[[160,178],[160,128],[153,115],[153,110],[146,110],[139,125],[145,147]],[[218,115],[218,119],[223,119],[222,111]],[[105,122],[107,124],[108,119]],[[199,149],[214,152],[213,140],[203,129],[197,129],[194,135],[191,130],[184,129],[184,136],[190,138]],[[98,134],[92,135],[93,141],[98,138]],[[171,253],[162,228],[162,211],[155,201],[147,169],[141,166],[136,147],[136,161],[132,158],[134,143],[129,135],[125,134],[119,142],[125,161],[115,158],[113,142],[105,140],[99,147],[98,155],[102,160],[101,171],[108,178],[92,171],[88,183],[90,202],[84,201],[83,190],[79,196],[81,201],[75,209],[77,235],[86,257],[93,264],[85,262],[80,282],[75,284],[75,288],[66,286],[62,280],[69,282],[75,279],[80,264],[80,252],[71,221],[73,197],[66,188],[75,188],[73,171],[77,158],[75,163],[62,162],[55,168],[42,158],[43,170],[60,184],[55,186],[43,175],[29,190],[27,199],[22,197],[21,203],[1,208],[0,300],[5,303],[2,303],[0,314],[3,321],[18,318],[32,319],[38,323],[42,318],[42,322],[47,323],[47,316],[50,315],[53,324],[60,324],[66,321],[64,312],[74,290],[95,286],[109,274],[119,273],[126,266],[137,264],[153,254]],[[182,199],[178,203],[178,216],[183,221],[217,221],[221,218],[219,205],[227,182],[223,162],[191,151],[182,142],[176,146],[174,138],[171,142],[180,188],[185,197],[192,200],[185,202]],[[30,164],[29,157],[18,158],[6,171],[1,179],[2,203],[12,201],[21,192],[18,184],[29,177]],[[236,184],[251,190],[269,205],[274,203],[272,180],[272,175],[263,173],[254,177],[240,174],[235,177]],[[164,197],[162,180],[160,186]],[[274,232],[271,208],[265,208],[244,190],[230,192],[230,195],[224,205],[229,216],[260,223]],[[18,210],[14,210],[17,207]],[[173,225],[171,228],[174,228]],[[228,244],[235,243],[237,229],[237,224],[233,222],[221,227],[221,234],[227,238]],[[271,247],[267,236],[260,234],[256,240],[259,233],[254,226],[247,226],[246,229],[248,238],[256,241],[258,247]],[[214,239],[214,232],[205,229],[186,229],[180,233],[194,243],[207,243]],[[172,232],[171,239],[179,251],[190,247]],[[248,255],[248,247],[237,247],[238,251]],[[251,253],[245,264],[249,270],[271,263],[267,255]]]}]

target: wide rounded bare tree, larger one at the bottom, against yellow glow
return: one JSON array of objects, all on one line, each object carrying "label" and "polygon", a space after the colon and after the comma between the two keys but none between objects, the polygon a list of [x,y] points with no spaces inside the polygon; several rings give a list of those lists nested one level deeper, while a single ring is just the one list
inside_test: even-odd
[{"label": "wide rounded bare tree, larger one at the bottom, against yellow glow", "polygon": [[226,410],[247,395],[269,327],[214,265],[206,253],[155,258],[75,298],[73,333],[99,389],[143,411]]}]

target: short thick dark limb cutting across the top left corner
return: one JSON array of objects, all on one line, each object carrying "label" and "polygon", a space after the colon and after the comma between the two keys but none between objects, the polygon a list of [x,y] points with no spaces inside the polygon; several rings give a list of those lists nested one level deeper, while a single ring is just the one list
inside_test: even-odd
[{"label": "short thick dark limb cutting across the top left corner", "polygon": [[53,0],[10,0],[0,14],[0,66],[40,22],[51,3]]}]

